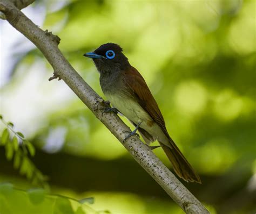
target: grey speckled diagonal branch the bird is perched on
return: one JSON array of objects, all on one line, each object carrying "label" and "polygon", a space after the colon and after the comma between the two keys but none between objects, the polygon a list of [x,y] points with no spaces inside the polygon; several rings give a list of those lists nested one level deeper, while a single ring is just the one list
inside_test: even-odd
[{"label": "grey speckled diagonal branch the bird is perched on", "polygon": [[[24,0],[23,0],[24,1]],[[95,116],[111,131],[124,145],[133,158],[149,173],[154,180],[167,192],[169,196],[186,213],[209,213],[190,191],[171,173],[171,171],[157,158],[149,147],[133,136],[123,142],[130,131],[123,121],[113,113],[105,113],[102,109],[106,104],[103,99],[82,79],[58,49],[59,37],[51,32],[43,31],[26,17],[11,1],[0,0],[0,11],[6,20],[19,32],[33,42],[50,62],[55,76],[59,76]],[[81,56],[81,60],[83,60]],[[136,176],[136,175],[134,175]],[[149,187],[150,189],[150,187]]]}]

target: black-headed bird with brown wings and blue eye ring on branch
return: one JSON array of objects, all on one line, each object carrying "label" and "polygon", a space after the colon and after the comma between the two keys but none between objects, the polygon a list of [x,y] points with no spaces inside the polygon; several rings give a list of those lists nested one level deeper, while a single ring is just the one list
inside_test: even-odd
[{"label": "black-headed bird with brown wings and blue eye ring on branch", "polygon": [[100,74],[100,87],[113,108],[105,112],[122,113],[136,128],[124,139],[142,135],[146,144],[158,141],[172,163],[174,172],[183,180],[201,183],[180,149],[167,132],[165,120],[143,76],[132,67],[123,49],[114,43],[106,43],[95,51],[85,53],[91,58]]}]

